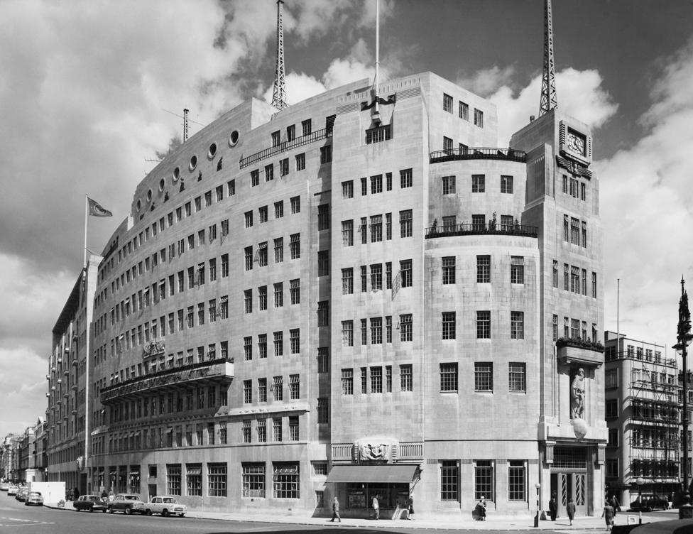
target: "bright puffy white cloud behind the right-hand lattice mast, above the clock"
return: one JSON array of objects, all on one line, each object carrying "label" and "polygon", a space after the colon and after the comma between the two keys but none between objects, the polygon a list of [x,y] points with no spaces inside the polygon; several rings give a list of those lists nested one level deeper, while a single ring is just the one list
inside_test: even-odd
[{"label": "bright puffy white cloud behind the right-hand lattice mast, above the clock", "polygon": [[[498,80],[508,70],[498,70]],[[487,83],[493,75],[481,75]],[[602,87],[602,77],[596,70],[568,68],[557,72],[558,106],[565,113],[588,124],[592,129],[609,120],[618,109]],[[508,85],[499,87],[489,99],[498,106],[498,142],[506,146],[511,135],[525,126],[530,115],[537,115],[541,94],[541,76],[536,76],[519,92]]]}]

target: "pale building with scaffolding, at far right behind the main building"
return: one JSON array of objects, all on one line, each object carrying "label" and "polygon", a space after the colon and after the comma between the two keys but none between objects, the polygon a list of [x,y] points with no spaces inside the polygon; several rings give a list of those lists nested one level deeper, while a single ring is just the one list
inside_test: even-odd
[{"label": "pale building with scaffolding, at far right behind the main building", "polygon": [[628,506],[639,494],[680,489],[677,361],[662,347],[605,332],[606,492]]}]

